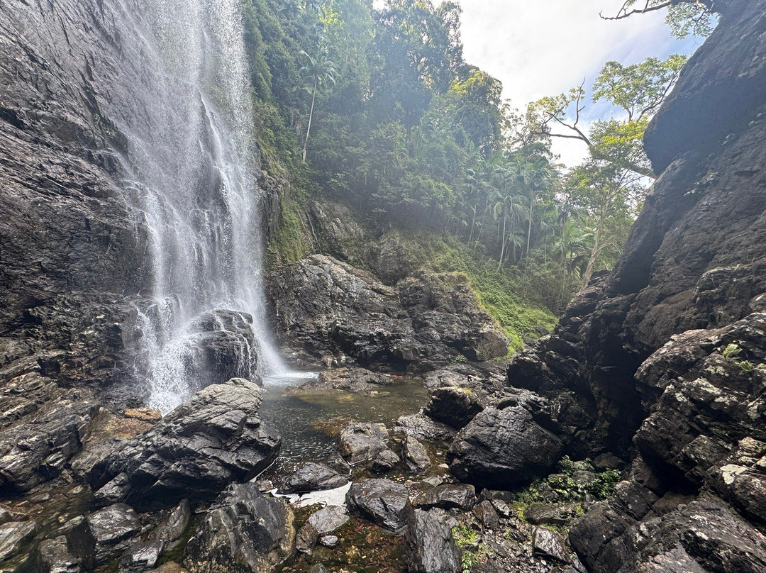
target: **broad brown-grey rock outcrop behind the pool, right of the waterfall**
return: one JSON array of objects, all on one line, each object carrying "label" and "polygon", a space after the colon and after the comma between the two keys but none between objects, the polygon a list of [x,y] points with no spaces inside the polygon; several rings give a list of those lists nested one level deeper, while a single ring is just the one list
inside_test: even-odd
[{"label": "broad brown-grey rock outcrop behind the pool, right of the waterfall", "polygon": [[393,288],[312,255],[270,273],[267,290],[280,336],[315,362],[427,370],[458,356],[489,360],[508,352],[461,275],[418,272]]}]

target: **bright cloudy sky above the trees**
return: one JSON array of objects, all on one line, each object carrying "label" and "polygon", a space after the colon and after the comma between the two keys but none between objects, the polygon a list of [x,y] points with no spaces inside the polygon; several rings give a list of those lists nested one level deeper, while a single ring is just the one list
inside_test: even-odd
[{"label": "bright cloudy sky above the trees", "polygon": [[[434,0],[434,4],[439,0]],[[647,57],[692,54],[699,38],[670,36],[664,12],[621,21],[621,0],[458,0],[463,8],[463,55],[502,81],[503,97],[523,110],[530,101],[579,86],[590,89],[610,60],[635,64]],[[381,5],[382,0],[375,0]],[[586,122],[609,116],[611,106],[589,104]],[[586,123],[587,125],[587,123]],[[554,139],[554,152],[568,166],[587,155],[584,143]]]}]

